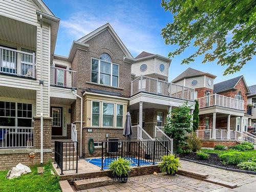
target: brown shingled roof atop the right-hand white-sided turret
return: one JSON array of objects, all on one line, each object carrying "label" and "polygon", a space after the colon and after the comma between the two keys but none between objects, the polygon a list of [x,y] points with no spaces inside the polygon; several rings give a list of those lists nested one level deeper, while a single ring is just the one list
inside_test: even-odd
[{"label": "brown shingled roof atop the right-hand white-sided turret", "polygon": [[205,73],[203,71],[199,71],[193,68],[187,68],[185,71],[183,71],[183,73],[181,73],[178,77],[176,77],[174,80],[172,80],[173,83],[182,80],[184,78],[190,78],[190,77],[197,77],[197,76],[203,76],[203,75],[207,75],[209,77],[212,78],[216,78],[217,76],[212,75],[210,73]]}]

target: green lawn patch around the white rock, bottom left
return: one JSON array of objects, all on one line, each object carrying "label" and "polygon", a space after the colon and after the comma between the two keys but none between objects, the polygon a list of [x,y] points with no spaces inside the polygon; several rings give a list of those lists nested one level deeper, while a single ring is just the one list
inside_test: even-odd
[{"label": "green lawn patch around the white rock, bottom left", "polygon": [[37,173],[37,166],[30,168],[31,173],[15,179],[6,179],[8,170],[1,170],[0,191],[61,191],[58,177],[51,174],[51,163],[45,165],[45,172],[40,175]]}]

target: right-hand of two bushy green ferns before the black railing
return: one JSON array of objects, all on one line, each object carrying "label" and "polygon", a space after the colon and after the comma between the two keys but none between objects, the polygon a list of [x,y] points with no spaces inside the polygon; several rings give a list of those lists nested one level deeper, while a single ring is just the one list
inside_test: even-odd
[{"label": "right-hand of two bushy green ferns before the black railing", "polygon": [[167,175],[176,175],[178,167],[180,167],[180,158],[175,155],[165,155],[162,157],[163,161],[159,163],[161,172],[166,172]]}]

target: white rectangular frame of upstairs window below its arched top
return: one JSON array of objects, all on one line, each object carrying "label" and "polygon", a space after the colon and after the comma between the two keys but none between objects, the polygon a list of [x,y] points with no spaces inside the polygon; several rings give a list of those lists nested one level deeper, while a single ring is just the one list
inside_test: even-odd
[{"label": "white rectangular frame of upstairs window below its arched top", "polygon": [[[111,86],[111,87],[114,87],[114,88],[119,88],[119,79],[120,79],[120,66],[119,66],[119,64],[113,63],[113,62],[109,62],[109,61],[106,61],[106,60],[101,60],[101,59],[94,58],[94,57],[91,58],[91,82],[93,82],[92,81],[92,60],[93,59],[98,60],[98,82],[97,83],[101,84],[100,83],[100,74],[101,74],[100,73],[100,65],[101,65],[101,61],[103,61],[103,62],[106,62],[106,63],[110,63],[111,64],[111,68],[110,68],[110,85],[109,84],[102,84],[102,85],[103,86]],[[113,81],[113,65],[118,66],[117,87],[113,86],[113,82],[112,82]]]}]

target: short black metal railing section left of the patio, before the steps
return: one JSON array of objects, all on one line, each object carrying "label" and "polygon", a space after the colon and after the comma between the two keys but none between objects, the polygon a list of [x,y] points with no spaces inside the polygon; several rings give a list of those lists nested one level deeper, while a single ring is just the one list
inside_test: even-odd
[{"label": "short black metal railing section left of the patio, before the steps", "polygon": [[78,142],[77,141],[55,141],[54,163],[60,168],[61,174],[65,170],[78,170]]}]

